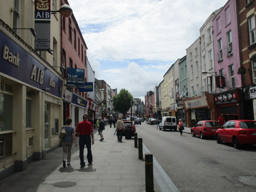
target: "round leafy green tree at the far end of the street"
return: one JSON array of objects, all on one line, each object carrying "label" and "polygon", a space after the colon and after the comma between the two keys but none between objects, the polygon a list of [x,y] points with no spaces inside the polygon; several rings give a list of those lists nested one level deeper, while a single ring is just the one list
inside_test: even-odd
[{"label": "round leafy green tree at the far end of the street", "polygon": [[121,89],[116,96],[113,97],[114,109],[121,112],[123,115],[131,108],[131,101],[133,104],[133,96],[128,90]]}]

